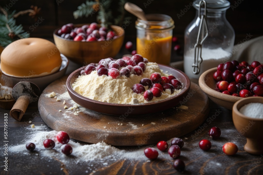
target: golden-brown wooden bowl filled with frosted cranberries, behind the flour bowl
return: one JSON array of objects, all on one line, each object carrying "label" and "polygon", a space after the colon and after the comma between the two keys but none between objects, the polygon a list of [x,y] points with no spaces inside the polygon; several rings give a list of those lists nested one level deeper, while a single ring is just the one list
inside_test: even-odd
[{"label": "golden-brown wooden bowl filled with frosted cranberries, behind the flour bowl", "polygon": [[73,62],[87,65],[106,57],[115,57],[124,40],[124,29],[97,23],[66,24],[53,33],[60,53]]}]

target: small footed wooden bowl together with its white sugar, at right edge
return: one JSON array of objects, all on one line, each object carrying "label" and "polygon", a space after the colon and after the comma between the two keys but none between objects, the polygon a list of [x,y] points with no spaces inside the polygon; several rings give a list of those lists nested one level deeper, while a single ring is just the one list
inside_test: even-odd
[{"label": "small footed wooden bowl together with its white sugar, at right edge", "polygon": [[233,105],[232,117],[237,131],[247,139],[244,150],[255,155],[262,154],[263,97],[238,100]]}]

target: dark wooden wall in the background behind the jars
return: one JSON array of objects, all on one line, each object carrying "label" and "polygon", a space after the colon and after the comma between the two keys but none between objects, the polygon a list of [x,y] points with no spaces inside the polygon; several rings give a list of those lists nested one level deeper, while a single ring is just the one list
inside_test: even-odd
[{"label": "dark wooden wall in the background behind the jars", "polygon": [[[36,21],[28,16],[20,16],[17,18],[18,23],[22,23],[26,31],[30,31],[31,37],[53,38],[53,31],[66,23],[91,23],[96,20],[95,15],[89,18],[74,19],[73,11],[77,9],[85,0],[1,0],[0,5],[12,5],[10,10],[24,10],[29,9],[31,5],[41,7],[40,18],[44,19],[33,31],[30,26],[34,25]],[[177,14],[188,6],[191,0],[133,0],[130,1],[141,7],[145,13],[163,13],[170,15],[175,21],[174,35],[183,38],[184,29],[194,19],[195,9],[190,9],[178,19]],[[144,7],[144,3],[149,6]],[[249,0],[230,0],[234,9],[229,8],[226,13],[227,20],[234,27],[236,32],[236,43],[245,38],[247,33],[250,33],[252,38],[263,34],[263,13],[262,1]],[[117,1],[113,0],[113,9],[117,7]],[[113,10],[114,12],[114,10]],[[136,35],[134,27],[136,18],[133,15],[131,24],[125,29],[126,37],[133,37]],[[32,28],[31,28],[32,29]]]}]

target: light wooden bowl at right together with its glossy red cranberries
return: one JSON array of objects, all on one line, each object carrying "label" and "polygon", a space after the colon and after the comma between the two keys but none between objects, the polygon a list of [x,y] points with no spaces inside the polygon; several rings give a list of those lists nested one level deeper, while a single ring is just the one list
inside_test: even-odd
[{"label": "light wooden bowl at right together with its glossy red cranberries", "polygon": [[263,96],[263,65],[258,61],[221,63],[200,76],[199,86],[215,103],[232,110],[237,100]]}]

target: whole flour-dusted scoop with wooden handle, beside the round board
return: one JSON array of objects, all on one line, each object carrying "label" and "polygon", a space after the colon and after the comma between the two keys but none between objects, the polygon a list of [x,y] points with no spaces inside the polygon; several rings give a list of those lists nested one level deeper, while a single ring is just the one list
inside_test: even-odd
[{"label": "whole flour-dusted scoop with wooden handle, beside the round board", "polygon": [[12,96],[16,100],[10,115],[20,121],[27,110],[29,103],[36,102],[40,96],[38,86],[32,82],[22,81],[12,89]]}]

